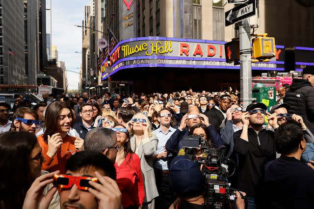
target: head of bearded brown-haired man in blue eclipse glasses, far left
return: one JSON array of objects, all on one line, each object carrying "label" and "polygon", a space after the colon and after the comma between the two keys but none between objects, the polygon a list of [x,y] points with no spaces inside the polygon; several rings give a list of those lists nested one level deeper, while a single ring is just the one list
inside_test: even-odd
[{"label": "head of bearded brown-haired man in blue eclipse glasses, far left", "polygon": [[19,108],[12,117],[14,131],[27,131],[29,133],[35,134],[36,126],[40,127],[42,121],[38,120],[37,113],[28,108]]}]

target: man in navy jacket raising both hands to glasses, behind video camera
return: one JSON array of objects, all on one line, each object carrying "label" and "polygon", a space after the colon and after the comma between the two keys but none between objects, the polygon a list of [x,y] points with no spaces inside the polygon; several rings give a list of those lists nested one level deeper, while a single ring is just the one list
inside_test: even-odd
[{"label": "man in navy jacket raising both hands to glasses, behind video camera", "polygon": [[189,129],[197,123],[203,123],[209,129],[209,138],[212,139],[213,144],[217,145],[217,147],[223,145],[223,140],[212,125],[209,124],[209,118],[204,114],[200,114],[196,106],[192,106],[188,109],[187,114],[183,116],[180,127],[168,139],[166,150],[176,156],[182,148],[183,136],[188,136]]}]

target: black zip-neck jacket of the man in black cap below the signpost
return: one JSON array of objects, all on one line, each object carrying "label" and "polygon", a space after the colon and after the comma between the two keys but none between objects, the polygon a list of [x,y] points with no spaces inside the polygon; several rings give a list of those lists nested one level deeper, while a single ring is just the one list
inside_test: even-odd
[{"label": "black zip-neck jacket of the man in black cap below the signpost", "polygon": [[257,135],[255,130],[249,127],[249,141],[241,139],[241,133],[242,130],[234,133],[234,152],[238,155],[239,166],[235,176],[235,188],[254,197],[264,165],[276,159],[275,132],[262,129]]}]

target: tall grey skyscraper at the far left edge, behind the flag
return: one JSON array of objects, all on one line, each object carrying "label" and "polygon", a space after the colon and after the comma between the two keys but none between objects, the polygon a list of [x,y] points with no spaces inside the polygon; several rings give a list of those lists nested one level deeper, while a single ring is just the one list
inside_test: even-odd
[{"label": "tall grey skyscraper at the far left edge, behind the flag", "polygon": [[23,7],[20,0],[0,0],[0,84],[26,83]]}]

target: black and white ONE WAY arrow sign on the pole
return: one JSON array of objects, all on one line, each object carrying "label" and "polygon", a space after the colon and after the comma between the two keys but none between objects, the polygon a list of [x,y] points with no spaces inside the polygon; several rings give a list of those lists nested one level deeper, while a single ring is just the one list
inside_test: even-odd
[{"label": "black and white ONE WAY arrow sign on the pole", "polygon": [[245,3],[242,3],[232,10],[229,10],[225,13],[225,25],[231,25],[233,23],[244,20],[245,18],[255,15],[255,0],[248,0]]}]

